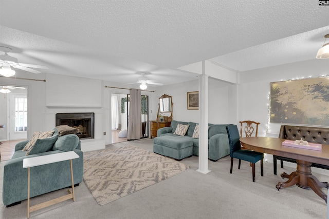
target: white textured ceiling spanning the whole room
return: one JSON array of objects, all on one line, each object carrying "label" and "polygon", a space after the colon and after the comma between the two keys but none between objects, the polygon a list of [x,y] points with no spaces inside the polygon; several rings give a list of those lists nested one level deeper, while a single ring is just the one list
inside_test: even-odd
[{"label": "white textured ceiling spanning the whole room", "polygon": [[176,68],[206,59],[234,71],[314,59],[328,24],[309,0],[0,1],[0,46],[19,62],[123,83],[190,81]]}]

